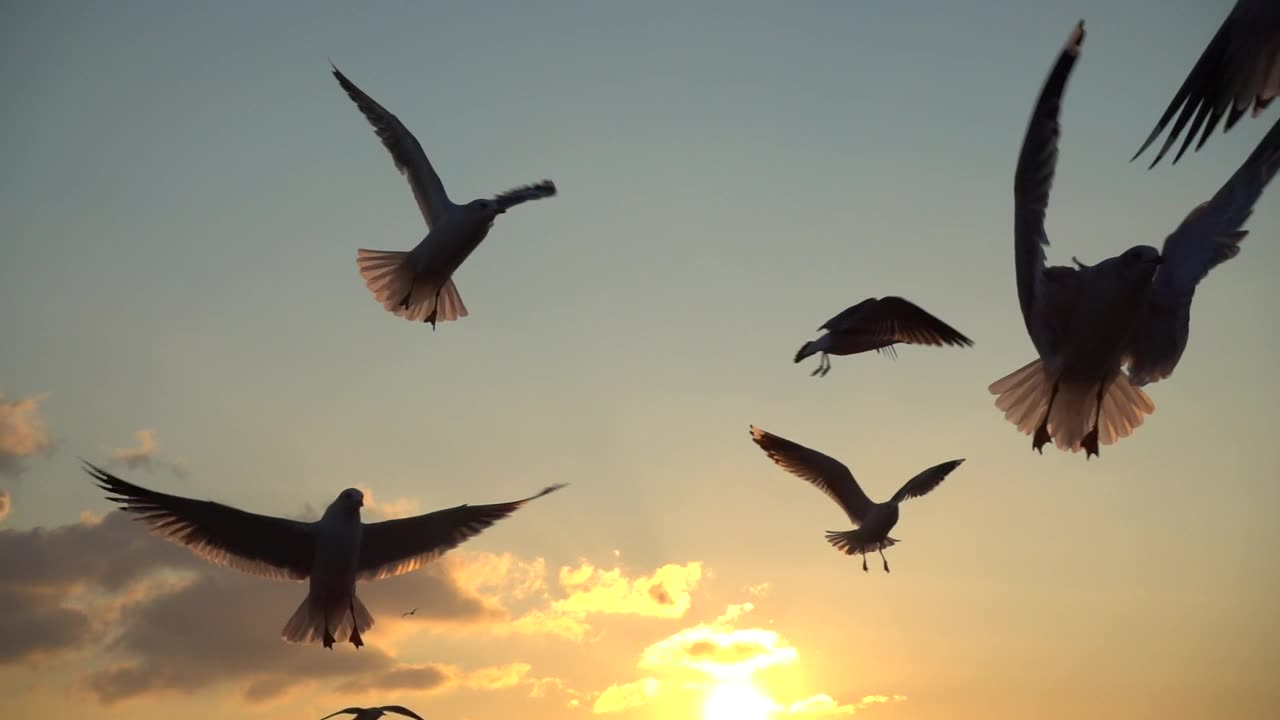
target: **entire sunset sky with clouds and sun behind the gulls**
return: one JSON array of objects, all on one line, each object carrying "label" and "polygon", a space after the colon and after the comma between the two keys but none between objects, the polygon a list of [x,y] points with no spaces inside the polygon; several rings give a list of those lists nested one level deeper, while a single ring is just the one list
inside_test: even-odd
[{"label": "entire sunset sky with clouds and sun behind the gulls", "polygon": [[[1271,127],[1129,163],[1230,5],[4,3],[0,715],[1270,716],[1280,190],[1132,437],[1041,456],[987,392],[1034,352],[1012,170],[1071,27],[1052,263],[1158,246]],[[360,281],[425,227],[329,59],[454,200],[556,181],[454,275],[466,319]],[[977,345],[792,364],[884,295]],[[966,462],[864,574],[750,424],[873,498]],[[366,647],[326,652],[279,639],[305,585],[146,534],[77,457],[293,518],[570,487],[361,585]]]}]

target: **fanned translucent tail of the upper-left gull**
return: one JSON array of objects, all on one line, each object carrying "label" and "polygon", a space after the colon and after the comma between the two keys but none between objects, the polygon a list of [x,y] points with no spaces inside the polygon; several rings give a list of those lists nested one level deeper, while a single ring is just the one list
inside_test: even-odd
[{"label": "fanned translucent tail of the upper-left gull", "polygon": [[443,283],[417,278],[408,252],[362,247],[356,254],[356,266],[374,299],[399,318],[435,325],[467,316],[467,306],[453,278]]}]

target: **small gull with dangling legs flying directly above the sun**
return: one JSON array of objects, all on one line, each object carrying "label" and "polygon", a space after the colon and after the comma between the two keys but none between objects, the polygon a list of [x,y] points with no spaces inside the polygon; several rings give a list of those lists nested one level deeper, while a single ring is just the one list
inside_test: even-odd
[{"label": "small gull with dangling legs flying directly above the sun", "polygon": [[872,551],[879,552],[884,571],[888,573],[884,548],[899,542],[888,537],[888,532],[897,524],[899,503],[910,497],[928,495],[964,462],[964,457],[961,457],[934,465],[906,480],[906,484],[893,493],[888,502],[872,502],[863,488],[858,486],[854,474],[840,460],[762,430],[755,425],[751,425],[751,439],[760,446],[769,460],[827,493],[827,497],[835,500],[845,510],[849,519],[854,521],[854,529],[842,533],[827,530],[827,542],[845,555],[861,555],[864,573],[867,571],[867,553]]}]

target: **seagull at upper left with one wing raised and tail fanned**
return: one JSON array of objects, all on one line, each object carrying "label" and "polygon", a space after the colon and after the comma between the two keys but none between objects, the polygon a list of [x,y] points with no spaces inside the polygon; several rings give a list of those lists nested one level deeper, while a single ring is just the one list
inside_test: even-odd
[{"label": "seagull at upper left with one wing raised and tail fanned", "polygon": [[347,91],[392,154],[396,168],[408,179],[428,227],[426,237],[408,252],[360,249],[356,255],[360,275],[383,307],[399,318],[431,323],[431,329],[435,329],[436,322],[465,318],[467,306],[453,283],[453,272],[489,234],[494,218],[521,202],[556,195],[556,183],[544,179],[492,199],[454,205],[417,138],[333,63],[329,65],[338,85]]}]

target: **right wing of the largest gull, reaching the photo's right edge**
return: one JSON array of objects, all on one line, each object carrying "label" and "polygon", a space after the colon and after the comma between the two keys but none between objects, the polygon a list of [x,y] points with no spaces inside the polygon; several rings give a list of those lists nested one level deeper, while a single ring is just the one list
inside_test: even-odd
[{"label": "right wing of the largest gull, reaching the photo's right edge", "polygon": [[1280,169],[1280,120],[1213,199],[1192,210],[1165,238],[1165,261],[1129,348],[1129,378],[1143,386],[1167,378],[1190,334],[1192,296],[1210,270],[1235,258],[1263,188]]}]

